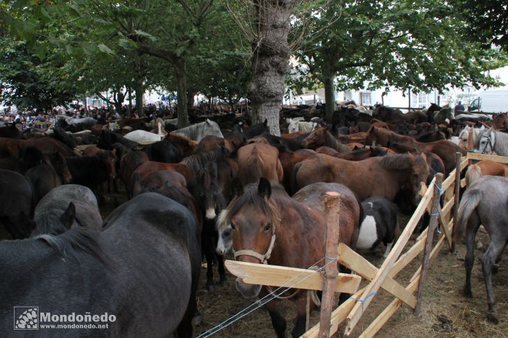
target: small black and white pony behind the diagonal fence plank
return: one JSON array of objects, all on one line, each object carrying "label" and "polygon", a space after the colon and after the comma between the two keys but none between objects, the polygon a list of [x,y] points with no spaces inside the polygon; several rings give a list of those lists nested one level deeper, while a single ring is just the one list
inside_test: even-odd
[{"label": "small black and white pony behind the diagonal fence plank", "polygon": [[373,250],[382,242],[386,247],[383,254],[386,258],[394,245],[398,208],[383,197],[366,199],[361,207],[364,218],[361,220],[357,249]]}]

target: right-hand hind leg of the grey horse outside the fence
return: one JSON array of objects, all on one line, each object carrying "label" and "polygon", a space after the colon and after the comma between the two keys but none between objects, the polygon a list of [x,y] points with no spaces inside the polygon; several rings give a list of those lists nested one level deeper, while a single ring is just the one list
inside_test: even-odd
[{"label": "right-hand hind leg of the grey horse outside the fence", "polygon": [[503,249],[505,249],[506,242],[500,238],[493,237],[491,243],[483,256],[481,256],[481,268],[484,271],[485,286],[487,289],[487,304],[489,321],[497,324],[499,323],[498,312],[495,311],[495,293],[492,286],[492,270],[495,261],[499,259]]}]

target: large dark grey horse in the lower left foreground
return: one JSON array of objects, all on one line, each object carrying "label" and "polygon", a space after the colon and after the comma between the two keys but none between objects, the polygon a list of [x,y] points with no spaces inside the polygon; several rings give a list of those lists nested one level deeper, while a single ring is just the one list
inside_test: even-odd
[{"label": "large dark grey horse in the lower left foreground", "polygon": [[119,206],[105,222],[104,231],[75,228],[0,242],[0,332],[9,335],[17,321],[27,325],[31,314],[14,318],[13,307],[36,306],[58,317],[80,315],[75,324],[97,324],[85,322],[87,314],[107,313],[110,321],[102,330],[51,322],[69,328],[24,336],[192,337],[201,255],[191,212],[147,193]]}]

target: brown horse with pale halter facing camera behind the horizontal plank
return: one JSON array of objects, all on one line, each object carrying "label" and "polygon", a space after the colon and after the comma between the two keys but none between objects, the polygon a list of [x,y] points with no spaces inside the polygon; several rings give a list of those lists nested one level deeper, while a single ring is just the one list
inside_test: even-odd
[{"label": "brown horse with pale halter facing camera behind the horizontal plank", "polygon": [[[326,217],[323,198],[326,192],[341,194],[339,240],[354,249],[358,238],[361,205],[345,186],[336,183],[316,183],[289,197],[281,185],[271,185],[261,178],[259,184],[249,184],[227,209],[218,222],[220,241],[236,250],[238,261],[264,263],[292,268],[322,266]],[[297,249],[298,254],[294,253]],[[267,287],[235,282],[246,298],[269,294]],[[305,332],[306,292],[295,289],[291,300],[297,305],[297,323],[293,337]],[[275,298],[264,305],[277,337],[285,337],[286,321],[281,312],[281,300]],[[310,303],[311,311],[314,307]]]}]

